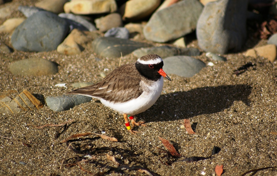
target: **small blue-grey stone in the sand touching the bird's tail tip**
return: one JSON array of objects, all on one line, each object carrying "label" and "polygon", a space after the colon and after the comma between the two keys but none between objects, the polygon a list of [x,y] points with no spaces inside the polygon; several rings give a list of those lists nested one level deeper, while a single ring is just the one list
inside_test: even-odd
[{"label": "small blue-grey stone in the sand touching the bird's tail tip", "polygon": [[83,95],[63,95],[62,97],[46,97],[47,106],[53,111],[66,111],[74,106],[91,101],[91,97]]}]

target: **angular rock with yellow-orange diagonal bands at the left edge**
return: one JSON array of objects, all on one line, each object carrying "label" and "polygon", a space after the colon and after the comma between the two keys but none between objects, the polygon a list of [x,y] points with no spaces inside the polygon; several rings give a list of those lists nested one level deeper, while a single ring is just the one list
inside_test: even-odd
[{"label": "angular rock with yellow-orange diagonal bands at the left edge", "polygon": [[0,97],[0,114],[15,114],[22,111],[34,111],[41,109],[42,107],[42,102],[25,89],[14,99],[11,99],[8,96]]}]

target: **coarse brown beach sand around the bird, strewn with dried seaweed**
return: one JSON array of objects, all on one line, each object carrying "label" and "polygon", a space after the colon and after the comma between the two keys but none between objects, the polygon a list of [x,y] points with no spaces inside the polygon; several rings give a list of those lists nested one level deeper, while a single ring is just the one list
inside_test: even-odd
[{"label": "coarse brown beach sand around the bird, strewn with dried seaweed", "polygon": [[[10,45],[9,34],[1,34],[0,38]],[[264,45],[265,42],[248,39],[245,48]],[[189,46],[197,47],[197,41],[191,40]],[[131,135],[125,129],[121,114],[95,99],[63,112],[54,112],[44,105],[37,111],[1,114],[0,136],[12,139],[0,138],[0,175],[146,175],[138,172],[138,168],[164,176],[215,175],[216,165],[223,165],[223,175],[242,175],[249,170],[277,166],[277,135],[271,133],[277,132],[276,62],[244,57],[242,53],[224,56],[227,62],[212,61],[215,63],[213,67],[203,68],[194,77],[169,75],[172,81],[165,80],[156,104],[135,117],[147,125],[135,127],[141,132],[137,135]],[[59,73],[39,77],[11,75],[9,65],[12,62],[30,57],[57,62]],[[56,51],[14,51],[0,53],[0,58],[0,94],[16,90],[17,93],[10,95],[14,98],[27,89],[44,104],[47,96],[61,96],[73,90],[71,84],[74,82],[100,81],[100,72],[107,75],[120,62],[120,58],[95,56],[90,45],[74,56]],[[205,53],[196,58],[205,63],[211,61]],[[135,60],[132,55],[126,55],[121,63]],[[248,62],[255,66],[240,75],[234,74],[234,70]],[[54,87],[58,83],[66,83],[67,87]],[[190,120],[196,134],[188,134],[180,128],[184,119]],[[26,126],[61,124],[69,120],[73,123],[66,128]],[[101,133],[101,130],[106,132],[105,135],[117,138],[118,142],[94,135],[81,137],[85,139],[82,141],[71,141],[71,146],[78,150],[87,149],[96,159],[80,164],[87,172],[78,165],[68,167],[67,164],[88,154],[69,149],[60,169],[67,150],[66,143],[60,143],[62,140],[73,134]],[[181,157],[172,157],[158,137],[170,141]],[[212,158],[192,163],[184,161],[193,156],[210,157],[214,146],[219,147],[220,152]],[[125,170],[115,171],[117,166],[107,159],[106,154],[115,156]],[[277,175],[277,170],[276,167],[268,168],[257,171],[255,175]]]}]

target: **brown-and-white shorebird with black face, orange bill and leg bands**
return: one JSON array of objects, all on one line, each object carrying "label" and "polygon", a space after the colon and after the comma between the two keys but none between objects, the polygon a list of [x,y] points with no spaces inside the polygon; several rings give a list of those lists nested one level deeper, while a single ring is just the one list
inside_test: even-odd
[{"label": "brown-and-white shorebird with black face, orange bill and leg bands", "polygon": [[171,81],[162,70],[163,60],[156,54],[148,54],[136,62],[117,67],[102,81],[82,87],[67,94],[79,94],[99,99],[102,104],[123,114],[127,130],[135,134],[133,126],[145,126],[144,122],[136,122],[134,115],[149,109],[160,97],[163,78]]}]

